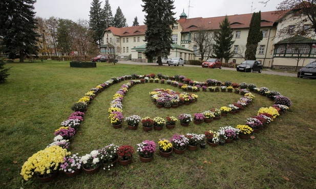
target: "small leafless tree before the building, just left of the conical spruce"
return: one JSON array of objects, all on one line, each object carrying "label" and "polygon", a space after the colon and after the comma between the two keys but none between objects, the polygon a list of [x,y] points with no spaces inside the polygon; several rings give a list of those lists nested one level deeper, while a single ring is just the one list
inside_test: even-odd
[{"label": "small leafless tree before the building, just left of the conical spruce", "polygon": [[201,60],[204,60],[205,54],[208,56],[213,50],[213,32],[206,30],[203,26],[193,35],[193,41],[197,45],[197,49],[201,55]]}]

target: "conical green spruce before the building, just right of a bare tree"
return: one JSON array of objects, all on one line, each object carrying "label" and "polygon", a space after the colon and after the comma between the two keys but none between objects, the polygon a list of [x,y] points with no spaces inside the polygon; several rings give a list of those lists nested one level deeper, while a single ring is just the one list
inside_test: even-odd
[{"label": "conical green spruce before the building, just right of a bare tree", "polygon": [[220,23],[220,30],[216,31],[214,36],[215,44],[213,45],[213,48],[217,58],[220,58],[223,61],[223,58],[228,60],[233,57],[234,52],[230,51],[235,42],[233,38],[233,30],[230,28],[228,17],[225,16]]}]

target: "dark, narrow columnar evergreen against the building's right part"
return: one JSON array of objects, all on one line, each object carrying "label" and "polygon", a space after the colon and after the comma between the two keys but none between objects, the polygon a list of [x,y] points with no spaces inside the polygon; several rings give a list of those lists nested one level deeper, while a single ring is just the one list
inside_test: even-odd
[{"label": "dark, narrow columnar evergreen against the building's right part", "polygon": [[261,27],[261,12],[254,12],[251,17],[249,32],[247,37],[245,59],[256,60],[258,43],[263,39]]}]

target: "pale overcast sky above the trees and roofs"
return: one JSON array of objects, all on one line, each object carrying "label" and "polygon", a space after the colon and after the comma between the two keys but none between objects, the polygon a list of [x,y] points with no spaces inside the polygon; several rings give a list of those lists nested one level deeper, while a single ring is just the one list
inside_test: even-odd
[{"label": "pale overcast sky above the trees and roofs", "polygon": [[[263,0],[191,0],[190,8],[189,0],[175,0],[174,12],[175,17],[179,19],[183,9],[189,18],[195,17],[216,17],[234,14],[248,14],[252,12],[274,11],[282,0],[269,1],[266,7],[259,3]],[[80,19],[89,20],[89,11],[92,0],[37,0],[34,4],[36,16],[49,18],[51,16],[57,18],[71,19],[77,21]],[[104,7],[104,1],[101,1],[101,8]],[[113,16],[117,7],[120,7],[127,23],[132,26],[135,16],[138,18],[140,25],[143,25],[144,12],[141,0],[109,0]],[[252,9],[251,9],[252,6]]]}]

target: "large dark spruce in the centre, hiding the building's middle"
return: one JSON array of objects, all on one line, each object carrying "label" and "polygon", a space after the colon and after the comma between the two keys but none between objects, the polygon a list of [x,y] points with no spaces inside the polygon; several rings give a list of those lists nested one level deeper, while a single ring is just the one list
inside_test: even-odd
[{"label": "large dark spruce in the centre, hiding the building's middle", "polygon": [[146,50],[144,52],[148,59],[157,57],[158,64],[162,65],[161,55],[170,55],[173,40],[171,38],[171,26],[176,23],[174,18],[173,0],[142,0],[145,15]]}]

